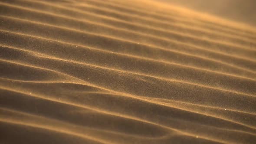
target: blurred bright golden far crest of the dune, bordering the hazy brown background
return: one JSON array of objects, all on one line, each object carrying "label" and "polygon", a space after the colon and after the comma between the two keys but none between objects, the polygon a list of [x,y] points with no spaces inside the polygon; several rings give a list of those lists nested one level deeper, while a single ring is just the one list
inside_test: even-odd
[{"label": "blurred bright golden far crest of the dune, bordering the hazy brown background", "polygon": [[[91,0],[89,0],[89,1],[91,1]],[[167,6],[168,11],[163,11],[163,7],[165,7],[166,5],[164,6],[163,3],[161,3],[161,4],[155,3],[152,0],[149,2],[143,0],[144,4],[146,4],[147,7],[143,7],[141,5],[132,5],[132,7],[131,7],[131,3],[122,3],[121,1],[116,1],[116,0],[107,0],[107,1],[108,2],[106,4],[112,5],[113,7],[115,6],[115,8],[121,7],[122,9],[126,9],[126,10],[134,10],[134,11],[136,11],[135,13],[138,13],[138,12],[143,13],[143,14],[147,13],[149,16],[154,15],[154,17],[157,19],[161,18],[161,19],[165,20],[166,18],[173,18],[173,19],[177,19],[177,20],[180,20],[181,22],[186,23],[186,25],[189,25],[188,22],[191,21],[192,23],[197,23],[198,26],[201,27],[201,26],[204,26],[205,24],[207,24],[207,21],[208,21],[209,22],[208,24],[210,24],[210,25],[208,25],[208,28],[213,29],[213,30],[218,30],[219,28],[222,29],[223,27],[226,27],[227,26],[226,23],[228,23],[228,26],[236,23],[236,22],[224,21],[225,25],[223,25],[223,23],[222,23],[220,26],[217,26],[219,24],[218,22],[223,22],[223,19],[220,19],[220,18],[216,19],[216,17],[214,17],[214,16],[207,15],[208,17],[210,16],[210,18],[213,18],[213,20],[210,20],[210,18],[208,18],[208,17],[201,17],[200,14],[198,14],[198,13],[194,14],[192,10],[184,10],[184,8],[182,8],[182,7],[176,8],[176,6],[171,6],[171,5]],[[104,3],[104,2],[100,1],[100,3]],[[121,10],[121,9],[118,9],[118,10]],[[193,17],[193,19],[191,17]],[[235,29],[232,29],[234,27],[235,27]],[[237,28],[237,27],[239,27],[239,28]],[[245,27],[246,27],[246,32],[244,32]],[[225,33],[233,32],[234,30],[241,31],[241,34],[243,34],[244,36],[246,36],[248,33],[251,34],[251,36],[253,36],[253,32],[251,33],[251,30],[253,30],[254,33],[256,33],[256,30],[251,26],[249,26],[247,28],[247,26],[241,26],[239,24],[239,26],[232,26],[232,28],[226,29]]]}]

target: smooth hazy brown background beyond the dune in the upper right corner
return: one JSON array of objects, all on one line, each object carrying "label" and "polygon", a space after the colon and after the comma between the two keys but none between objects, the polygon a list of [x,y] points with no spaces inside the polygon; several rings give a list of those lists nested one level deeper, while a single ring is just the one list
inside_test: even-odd
[{"label": "smooth hazy brown background beyond the dune in the upper right corner", "polygon": [[256,26],[256,0],[158,0]]}]

